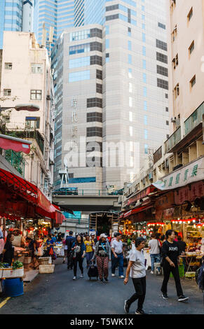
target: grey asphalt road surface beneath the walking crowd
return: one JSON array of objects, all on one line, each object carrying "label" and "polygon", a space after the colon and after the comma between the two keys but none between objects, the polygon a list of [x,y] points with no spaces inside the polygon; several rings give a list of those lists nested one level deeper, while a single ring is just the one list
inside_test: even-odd
[{"label": "grey asphalt road surface beneath the walking crowd", "polygon": [[[149,272],[144,302],[144,310],[148,314],[204,314],[203,294],[195,281],[182,279],[184,294],[189,297],[189,302],[177,302],[174,279],[168,283],[169,300],[163,300],[160,291],[163,276]],[[77,274],[79,276],[80,272]],[[67,270],[67,265],[57,258],[53,274],[36,276],[32,283],[25,286],[25,294],[8,300],[0,308],[0,314],[124,314],[124,300],[134,293],[131,279],[124,286],[123,279],[118,276],[112,278],[110,271],[109,283],[90,281],[87,269],[84,274],[84,278],[73,281],[72,270]],[[5,298],[0,298],[0,303],[3,300]],[[134,314],[136,308],[135,302],[130,314]]]}]

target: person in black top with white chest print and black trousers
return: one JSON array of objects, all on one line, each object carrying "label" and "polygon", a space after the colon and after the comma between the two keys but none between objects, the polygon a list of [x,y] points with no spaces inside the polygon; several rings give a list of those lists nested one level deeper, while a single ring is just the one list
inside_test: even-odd
[{"label": "person in black top with white chest print and black trousers", "polygon": [[168,230],[165,233],[166,241],[162,245],[162,255],[163,255],[163,283],[161,286],[162,297],[168,300],[167,285],[170,277],[170,272],[175,279],[175,285],[177,289],[178,301],[183,302],[188,300],[189,297],[185,297],[183,294],[180,278],[179,278],[179,245],[175,241],[175,231]]}]

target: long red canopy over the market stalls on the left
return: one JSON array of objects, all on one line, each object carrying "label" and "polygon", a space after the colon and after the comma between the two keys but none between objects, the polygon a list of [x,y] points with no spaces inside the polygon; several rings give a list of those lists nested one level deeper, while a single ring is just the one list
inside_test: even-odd
[{"label": "long red canopy over the market stalls on the left", "polygon": [[64,215],[32,183],[4,169],[0,169],[0,214],[34,218],[36,215],[62,224]]}]

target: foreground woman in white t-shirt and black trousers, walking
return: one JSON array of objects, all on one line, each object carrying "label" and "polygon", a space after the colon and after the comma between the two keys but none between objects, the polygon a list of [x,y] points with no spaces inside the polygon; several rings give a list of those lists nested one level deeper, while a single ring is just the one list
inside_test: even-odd
[{"label": "foreground woman in white t-shirt and black trousers, walking", "polygon": [[130,305],[135,300],[138,300],[135,314],[145,314],[142,309],[146,295],[146,264],[144,252],[142,251],[144,246],[145,239],[143,237],[137,237],[135,239],[135,248],[132,248],[130,251],[130,260],[128,262],[124,284],[128,283],[130,274],[135,287],[135,293],[128,300],[125,300],[124,309],[127,314],[129,313]]}]

